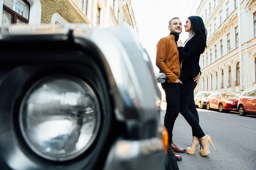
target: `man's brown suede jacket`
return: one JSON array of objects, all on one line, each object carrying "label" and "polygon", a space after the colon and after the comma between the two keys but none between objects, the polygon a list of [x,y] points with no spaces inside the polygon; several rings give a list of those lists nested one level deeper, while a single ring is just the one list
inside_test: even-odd
[{"label": "man's brown suede jacket", "polygon": [[166,75],[168,83],[173,83],[180,77],[179,51],[174,35],[163,37],[158,41],[156,65],[160,72]]}]

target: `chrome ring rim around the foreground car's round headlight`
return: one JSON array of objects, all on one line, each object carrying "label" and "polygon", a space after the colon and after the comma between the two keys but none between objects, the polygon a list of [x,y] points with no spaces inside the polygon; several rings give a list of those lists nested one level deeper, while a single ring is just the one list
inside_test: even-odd
[{"label": "chrome ring rim around the foreground car's round headlight", "polygon": [[[32,94],[32,92],[38,87],[39,85],[42,84],[42,82],[45,82],[45,80],[50,81],[53,79],[68,79],[68,80],[73,80],[75,82],[79,81],[81,82],[87,89],[89,89],[90,93],[93,95],[95,102],[96,102],[96,109],[97,109],[97,116],[96,116],[96,126],[95,130],[93,131],[93,136],[91,137],[90,141],[87,143],[87,145],[82,148],[79,152],[72,154],[71,156],[68,157],[62,157],[62,158],[57,158],[53,156],[48,156],[44,153],[41,153],[33,144],[30,142],[28,136],[26,135],[26,132],[23,127],[22,123],[22,117],[23,117],[23,109],[25,106],[25,102],[29,98],[29,95]],[[93,88],[93,85],[89,85],[90,81],[86,81],[85,78],[77,77],[72,74],[52,74],[52,75],[47,75],[44,77],[41,77],[35,81],[33,81],[32,86],[30,86],[28,89],[26,89],[23,97],[21,98],[20,102],[20,108],[18,109],[18,127],[19,131],[21,134],[21,137],[23,138],[25,144],[27,147],[32,150],[36,155],[38,155],[42,159],[46,159],[48,161],[56,161],[56,162],[64,162],[64,161],[71,161],[73,159],[78,158],[81,155],[84,155],[84,153],[87,153],[87,151],[90,151],[90,148],[93,147],[93,145],[96,142],[96,139],[100,135],[100,128],[101,128],[101,123],[102,123],[102,108],[100,106],[101,98],[99,97],[99,94],[97,93],[96,89]],[[88,82],[88,83],[87,83]]]}]

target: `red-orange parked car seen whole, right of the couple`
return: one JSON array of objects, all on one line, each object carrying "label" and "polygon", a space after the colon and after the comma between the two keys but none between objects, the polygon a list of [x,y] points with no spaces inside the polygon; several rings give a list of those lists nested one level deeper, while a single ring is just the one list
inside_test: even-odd
[{"label": "red-orange parked car seen whole, right of the couple", "polygon": [[237,111],[239,95],[231,92],[212,92],[207,98],[207,110]]}]

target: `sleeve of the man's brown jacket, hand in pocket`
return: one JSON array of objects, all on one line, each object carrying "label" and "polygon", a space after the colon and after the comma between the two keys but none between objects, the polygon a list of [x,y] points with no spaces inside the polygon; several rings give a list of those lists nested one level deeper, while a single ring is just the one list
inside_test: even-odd
[{"label": "sleeve of the man's brown jacket, hand in pocket", "polygon": [[157,56],[156,56],[156,65],[159,70],[166,75],[167,82],[173,83],[177,80],[177,75],[174,74],[166,65],[166,50],[167,45],[163,39],[159,40],[157,43]]}]

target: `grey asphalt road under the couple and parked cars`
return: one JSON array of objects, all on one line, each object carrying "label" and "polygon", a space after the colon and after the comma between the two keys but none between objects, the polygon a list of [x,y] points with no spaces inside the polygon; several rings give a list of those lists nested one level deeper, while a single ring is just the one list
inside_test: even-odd
[{"label": "grey asphalt road under the couple and parked cars", "polygon": [[[162,105],[165,113],[165,104]],[[212,138],[217,150],[209,143],[210,155],[202,157],[198,146],[195,155],[179,153],[180,170],[256,170],[256,116],[219,113],[198,109],[199,121],[205,134]],[[190,147],[192,130],[181,114],[176,119],[173,142]]]}]

